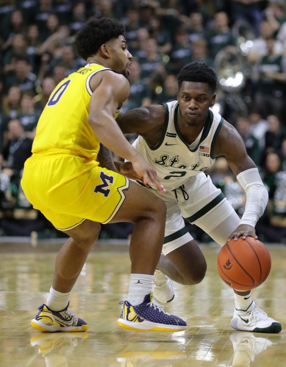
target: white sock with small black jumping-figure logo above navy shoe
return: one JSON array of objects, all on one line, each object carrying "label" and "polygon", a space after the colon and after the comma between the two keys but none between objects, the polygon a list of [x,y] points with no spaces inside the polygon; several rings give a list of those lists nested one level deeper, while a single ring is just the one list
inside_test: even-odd
[{"label": "white sock with small black jumping-figure logo above navy shoe", "polygon": [[132,306],[143,303],[146,294],[152,292],[154,275],[130,274],[127,301]]}]

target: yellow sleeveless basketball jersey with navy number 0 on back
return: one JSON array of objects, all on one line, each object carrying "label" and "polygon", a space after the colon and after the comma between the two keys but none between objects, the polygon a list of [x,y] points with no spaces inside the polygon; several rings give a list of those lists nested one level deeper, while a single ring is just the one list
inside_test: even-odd
[{"label": "yellow sleeveless basketball jersey with navy number 0 on back", "polygon": [[[87,121],[92,95],[90,80],[103,70],[111,69],[89,63],[60,81],[38,121],[32,153],[47,150],[62,153],[66,151],[88,159],[96,159],[99,140]],[[114,118],[119,110],[120,108]]]}]

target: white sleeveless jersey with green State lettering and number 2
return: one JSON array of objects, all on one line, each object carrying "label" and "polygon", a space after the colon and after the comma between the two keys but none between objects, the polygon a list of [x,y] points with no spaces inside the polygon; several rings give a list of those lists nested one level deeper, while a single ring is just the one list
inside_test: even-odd
[{"label": "white sleeveless jersey with green State lettering and number 2", "polygon": [[133,147],[157,171],[166,190],[174,190],[188,178],[214,164],[214,142],[223,124],[219,113],[209,109],[206,124],[197,139],[189,145],[180,133],[177,123],[179,103],[164,103],[165,123],[162,136],[154,147],[139,136]]}]

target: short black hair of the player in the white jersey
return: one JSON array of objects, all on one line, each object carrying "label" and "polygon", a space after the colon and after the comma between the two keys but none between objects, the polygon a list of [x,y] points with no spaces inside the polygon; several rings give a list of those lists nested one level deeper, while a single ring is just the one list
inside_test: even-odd
[{"label": "short black hair of the player in the white jersey", "polygon": [[195,81],[198,83],[207,83],[212,92],[217,88],[216,73],[212,68],[203,62],[191,62],[185,65],[177,76],[179,89],[183,81]]}]

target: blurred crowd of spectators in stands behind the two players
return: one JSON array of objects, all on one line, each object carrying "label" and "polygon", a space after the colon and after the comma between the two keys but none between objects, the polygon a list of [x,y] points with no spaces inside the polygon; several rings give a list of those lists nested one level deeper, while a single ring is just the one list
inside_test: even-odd
[{"label": "blurred crowd of spectators in stands behind the two players", "polygon": [[[286,243],[283,0],[0,1],[2,233],[29,235],[37,230],[58,235],[40,213],[33,219],[27,214],[31,206],[19,182],[49,95],[60,80],[85,65],[74,52],[73,39],[92,17],[115,17],[126,27],[133,62],[123,111],[176,99],[176,75],[187,63],[205,62],[216,70],[213,108],[236,127],[269,192],[258,236]],[[131,142],[135,138],[128,137]],[[242,215],[245,194],[225,159],[217,159],[208,173]],[[195,226],[189,229],[208,241]],[[131,231],[129,224],[107,225],[102,236],[126,238]]]}]

